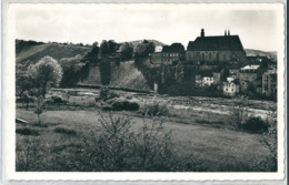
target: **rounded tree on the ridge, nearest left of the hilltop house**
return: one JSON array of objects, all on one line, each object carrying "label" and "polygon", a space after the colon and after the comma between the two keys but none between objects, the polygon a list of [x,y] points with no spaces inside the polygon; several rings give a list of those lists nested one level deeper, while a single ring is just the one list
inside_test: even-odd
[{"label": "rounded tree on the ridge, nearest left of the hilltop house", "polygon": [[149,53],[152,53],[155,52],[155,43],[153,42],[142,42],[142,43],[139,43],[137,44],[134,48],[133,48],[133,58],[134,59],[139,59],[139,58],[144,58],[144,56],[148,56]]}]

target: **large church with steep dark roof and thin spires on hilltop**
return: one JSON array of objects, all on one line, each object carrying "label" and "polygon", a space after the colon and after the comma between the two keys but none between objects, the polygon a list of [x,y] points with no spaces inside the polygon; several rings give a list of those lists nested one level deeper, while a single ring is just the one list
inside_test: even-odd
[{"label": "large church with steep dark roof and thin spires on hilltop", "polygon": [[226,30],[225,35],[206,37],[201,29],[200,37],[190,41],[186,51],[186,61],[196,65],[238,65],[245,60],[246,52],[240,38],[230,35],[230,30]]}]

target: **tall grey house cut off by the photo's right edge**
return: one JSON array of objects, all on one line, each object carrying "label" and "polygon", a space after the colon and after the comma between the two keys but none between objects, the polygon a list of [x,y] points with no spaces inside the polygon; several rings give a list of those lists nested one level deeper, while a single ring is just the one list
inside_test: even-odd
[{"label": "tall grey house cut off by the photo's right edge", "polygon": [[262,93],[266,96],[277,96],[277,71],[268,70],[262,75]]}]

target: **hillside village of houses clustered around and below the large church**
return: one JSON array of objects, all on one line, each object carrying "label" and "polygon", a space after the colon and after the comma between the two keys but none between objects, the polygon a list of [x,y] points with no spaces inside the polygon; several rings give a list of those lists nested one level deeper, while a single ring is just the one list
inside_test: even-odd
[{"label": "hillside village of houses clustered around and below the large church", "polygon": [[[150,53],[150,68],[160,65],[169,68],[175,80],[183,81],[186,72],[178,73],[180,68],[191,73],[189,81],[195,90],[213,86],[225,96],[246,94],[277,99],[277,60],[272,55],[246,55],[239,35],[231,35],[230,30],[226,30],[225,35],[206,37],[201,29],[200,37],[190,41],[187,50],[181,43],[156,45]],[[158,85],[155,82],[155,92]]]}]

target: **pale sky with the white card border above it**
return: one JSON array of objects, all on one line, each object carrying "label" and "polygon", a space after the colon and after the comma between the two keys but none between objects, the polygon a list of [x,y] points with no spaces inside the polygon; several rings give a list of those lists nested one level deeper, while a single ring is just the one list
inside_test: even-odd
[{"label": "pale sky with the white card border above it", "polygon": [[[278,7],[278,6],[277,6]],[[16,38],[93,43],[153,39],[166,44],[200,35],[238,34],[243,48],[276,51],[282,34],[275,6],[229,4],[17,4]]]}]

